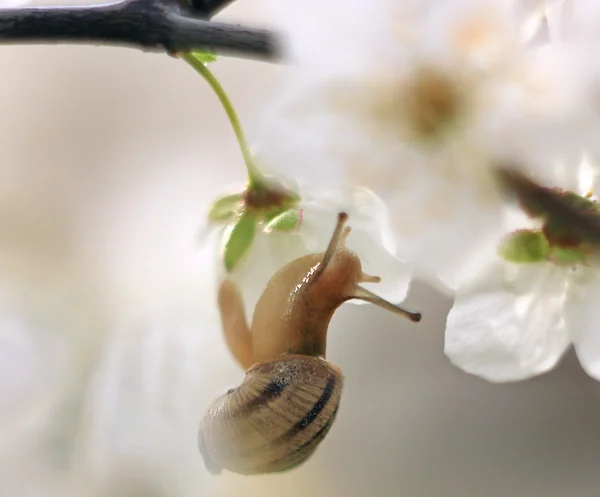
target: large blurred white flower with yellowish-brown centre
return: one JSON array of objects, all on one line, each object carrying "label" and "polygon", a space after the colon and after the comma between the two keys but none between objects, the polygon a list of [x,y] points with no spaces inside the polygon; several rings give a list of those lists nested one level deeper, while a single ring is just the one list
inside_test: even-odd
[{"label": "large blurred white flower with yellowish-brown centre", "polygon": [[549,158],[575,161],[579,66],[566,49],[529,43],[519,2],[334,4],[307,32],[286,3],[300,74],[267,120],[263,152],[296,176],[373,189],[398,254],[456,287],[501,225],[490,166],[551,177]]}]

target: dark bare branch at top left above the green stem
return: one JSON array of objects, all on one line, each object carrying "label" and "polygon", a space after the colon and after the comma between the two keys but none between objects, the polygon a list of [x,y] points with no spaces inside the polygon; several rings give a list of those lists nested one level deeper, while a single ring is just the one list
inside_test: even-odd
[{"label": "dark bare branch at top left above the green stem", "polygon": [[169,0],[126,0],[108,5],[4,9],[0,10],[0,44],[83,43],[168,53],[211,51],[262,60],[278,57],[276,36],[270,31],[191,15],[208,18],[226,2],[196,1],[196,6],[192,0],[184,2],[182,6]]}]

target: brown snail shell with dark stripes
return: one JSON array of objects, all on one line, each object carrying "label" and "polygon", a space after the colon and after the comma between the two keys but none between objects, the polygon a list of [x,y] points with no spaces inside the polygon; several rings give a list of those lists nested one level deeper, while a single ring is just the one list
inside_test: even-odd
[{"label": "brown snail shell with dark stripes", "polygon": [[251,475],[301,464],[329,432],[342,386],[339,368],[320,357],[256,364],[208,409],[198,435],[207,468]]}]

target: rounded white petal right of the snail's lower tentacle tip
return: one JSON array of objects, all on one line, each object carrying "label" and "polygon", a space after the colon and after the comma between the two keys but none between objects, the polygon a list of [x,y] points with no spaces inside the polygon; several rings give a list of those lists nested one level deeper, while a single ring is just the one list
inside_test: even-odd
[{"label": "rounded white petal right of the snail's lower tentacle tip", "polygon": [[498,261],[456,296],[446,324],[450,361],[494,382],[555,367],[570,344],[562,317],[567,276],[550,264]]}]

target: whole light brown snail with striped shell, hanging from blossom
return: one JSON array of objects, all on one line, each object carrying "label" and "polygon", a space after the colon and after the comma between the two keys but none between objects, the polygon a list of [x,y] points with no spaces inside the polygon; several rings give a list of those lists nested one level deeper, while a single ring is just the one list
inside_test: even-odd
[{"label": "whole light brown snail with striped shell, hanging from blossom", "polygon": [[237,286],[227,279],[222,283],[223,333],[247,372],[239,387],[209,406],[200,424],[198,445],[212,474],[286,471],[314,453],[340,404],[343,375],[325,360],[325,352],[329,322],[344,302],[360,299],[420,321],[420,313],[359,285],[381,279],[363,273],[359,257],[345,247],[347,217],[338,215],[324,253],[300,257],[275,273],[251,327]]}]

